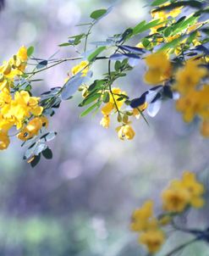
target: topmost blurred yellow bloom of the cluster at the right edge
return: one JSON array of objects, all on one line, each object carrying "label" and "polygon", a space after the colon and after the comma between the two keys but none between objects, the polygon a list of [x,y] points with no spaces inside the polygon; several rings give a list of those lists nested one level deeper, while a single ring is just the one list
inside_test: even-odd
[{"label": "topmost blurred yellow bloom of the cluster at the right edge", "polygon": [[[201,60],[191,58],[188,60],[184,68],[179,69],[175,75],[175,89],[182,95],[194,90],[198,86],[201,79],[206,76],[206,68],[200,67]],[[195,75],[194,75],[195,74]]]}]

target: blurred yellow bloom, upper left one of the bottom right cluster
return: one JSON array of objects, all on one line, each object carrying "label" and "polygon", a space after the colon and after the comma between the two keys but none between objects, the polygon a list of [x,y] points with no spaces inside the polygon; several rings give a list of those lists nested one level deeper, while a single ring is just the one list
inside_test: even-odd
[{"label": "blurred yellow bloom, upper left one of the bottom right cluster", "polygon": [[147,200],[140,209],[135,209],[133,212],[130,229],[132,231],[146,231],[151,227],[156,228],[156,226],[157,220],[153,218],[153,201]]}]

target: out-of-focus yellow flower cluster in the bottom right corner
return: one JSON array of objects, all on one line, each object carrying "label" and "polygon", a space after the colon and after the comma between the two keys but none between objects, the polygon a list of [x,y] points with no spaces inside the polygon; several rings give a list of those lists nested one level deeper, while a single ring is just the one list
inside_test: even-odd
[{"label": "out-of-focus yellow flower cluster in the bottom right corner", "polygon": [[140,234],[140,244],[145,245],[149,253],[157,253],[166,239],[162,227],[170,224],[177,214],[189,207],[201,208],[204,205],[203,193],[204,186],[196,180],[195,174],[185,171],[181,180],[172,181],[162,192],[163,212],[159,217],[153,214],[151,200],[136,209],[130,228]]}]

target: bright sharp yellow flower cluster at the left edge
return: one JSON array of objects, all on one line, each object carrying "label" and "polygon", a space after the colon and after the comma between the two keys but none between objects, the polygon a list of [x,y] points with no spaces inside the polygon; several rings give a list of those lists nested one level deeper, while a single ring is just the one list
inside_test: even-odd
[{"label": "bright sharp yellow flower cluster at the left edge", "polygon": [[[31,97],[27,91],[14,92],[13,95],[10,90],[14,87],[14,78],[23,75],[27,58],[26,47],[20,47],[18,53],[0,67],[0,150],[8,147],[8,131],[12,127],[20,130],[19,139],[27,140],[41,129],[37,120],[46,120],[44,117],[31,120],[33,116],[42,114],[43,108],[39,106],[39,97]],[[29,124],[25,127],[28,120]]]}]

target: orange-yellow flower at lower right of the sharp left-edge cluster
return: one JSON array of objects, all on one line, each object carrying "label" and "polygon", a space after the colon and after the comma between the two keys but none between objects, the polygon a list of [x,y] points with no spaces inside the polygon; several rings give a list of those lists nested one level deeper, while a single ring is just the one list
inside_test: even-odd
[{"label": "orange-yellow flower at lower right of the sharp left-edge cluster", "polygon": [[17,137],[21,141],[27,141],[31,137],[38,135],[38,132],[41,129],[41,127],[41,118],[36,117],[35,119],[29,121],[25,128],[21,132],[19,132]]}]

